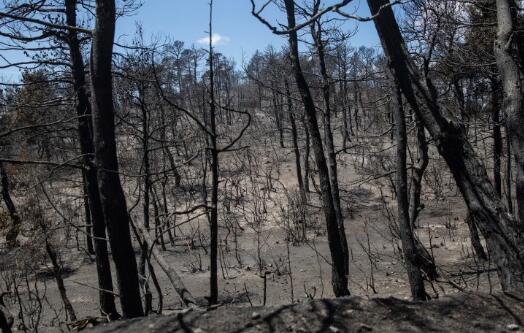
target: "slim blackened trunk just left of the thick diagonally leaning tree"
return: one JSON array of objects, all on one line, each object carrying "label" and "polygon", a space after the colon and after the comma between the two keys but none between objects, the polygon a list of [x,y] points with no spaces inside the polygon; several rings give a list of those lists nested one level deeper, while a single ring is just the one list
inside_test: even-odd
[{"label": "slim blackened trunk just left of the thick diagonally leaning tree", "polygon": [[415,300],[427,300],[429,297],[424,289],[424,279],[418,262],[420,255],[417,251],[416,240],[409,219],[408,172],[406,164],[407,134],[402,93],[396,84],[394,85],[394,90],[393,96],[396,102],[394,117],[397,141],[397,209],[400,240],[402,242],[411,296]]}]

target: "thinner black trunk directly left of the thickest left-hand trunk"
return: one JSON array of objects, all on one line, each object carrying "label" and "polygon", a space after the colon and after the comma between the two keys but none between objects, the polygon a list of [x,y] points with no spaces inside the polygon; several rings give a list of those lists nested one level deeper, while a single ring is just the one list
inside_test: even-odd
[{"label": "thinner black trunk directly left of the thickest left-hand trunk", "polygon": [[[75,27],[77,0],[66,0],[66,21],[69,26]],[[80,50],[80,41],[76,31],[70,30],[67,36],[69,56],[72,68],[72,77],[76,94],[76,113],[78,116],[78,137],[80,152],[85,165],[84,188],[89,203],[89,215],[93,226],[94,252],[98,275],[100,311],[103,315],[116,319],[119,314],[115,306],[113,294],[113,280],[107,250],[106,226],[100,193],[98,192],[98,176],[94,163],[94,142],[92,128],[92,113],[87,96],[86,73],[84,60]]]}]

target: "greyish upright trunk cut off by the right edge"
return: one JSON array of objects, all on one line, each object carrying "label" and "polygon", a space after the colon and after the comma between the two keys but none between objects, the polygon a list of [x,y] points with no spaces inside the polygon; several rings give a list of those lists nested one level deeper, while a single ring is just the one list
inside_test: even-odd
[{"label": "greyish upright trunk cut off by the right edge", "polygon": [[494,51],[502,82],[502,108],[515,156],[517,213],[520,223],[524,224],[524,73],[518,57],[519,51],[524,50],[519,50],[516,36],[516,4],[513,0],[496,0],[496,4],[498,30]]}]

